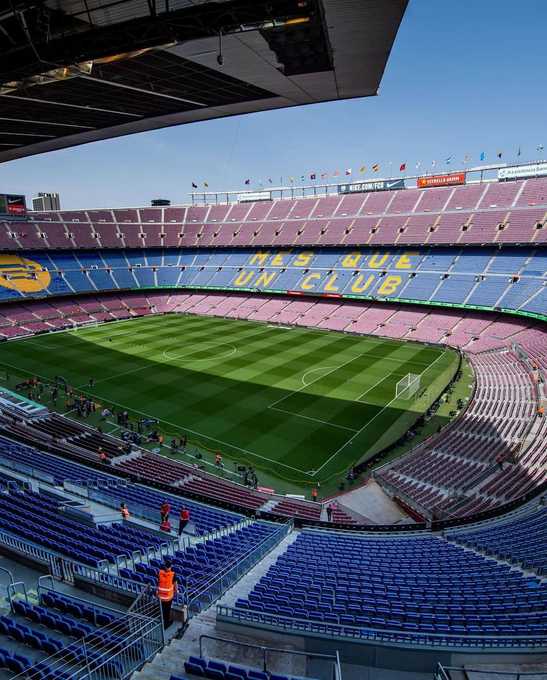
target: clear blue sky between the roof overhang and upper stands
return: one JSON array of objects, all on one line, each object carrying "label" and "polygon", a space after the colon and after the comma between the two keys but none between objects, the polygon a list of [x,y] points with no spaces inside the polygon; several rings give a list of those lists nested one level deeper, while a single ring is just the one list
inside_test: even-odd
[{"label": "clear blue sky between the roof overhang and upper stands", "polygon": [[[389,1],[389,0],[388,0]],[[381,95],[250,114],[99,141],[0,165],[0,189],[56,191],[61,207],[188,203],[200,188],[251,188],[353,168],[351,179],[537,158],[547,150],[546,0],[410,0]],[[237,136],[236,136],[237,132]],[[234,144],[235,139],[235,144]],[[234,147],[231,162],[230,152]],[[542,158],[545,158],[546,151]],[[395,174],[395,173],[394,173]]]}]

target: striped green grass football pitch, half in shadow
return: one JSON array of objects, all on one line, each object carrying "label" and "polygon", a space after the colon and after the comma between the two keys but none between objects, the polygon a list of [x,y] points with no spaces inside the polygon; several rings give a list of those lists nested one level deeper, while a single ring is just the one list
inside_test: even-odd
[{"label": "striped green grass football pitch, half in shadow", "polygon": [[[158,418],[168,444],[186,432],[192,451],[222,452],[230,473],[231,461],[252,462],[296,486],[341,475],[401,437],[458,365],[441,347],[175,314],[37,335],[1,350],[16,375],[62,375],[75,394]],[[395,398],[408,373],[421,376],[419,392],[428,388],[419,399]]]}]

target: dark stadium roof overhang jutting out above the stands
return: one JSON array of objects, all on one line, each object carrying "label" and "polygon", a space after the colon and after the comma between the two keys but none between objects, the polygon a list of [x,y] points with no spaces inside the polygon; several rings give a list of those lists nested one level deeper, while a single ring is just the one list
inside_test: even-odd
[{"label": "dark stadium roof overhang jutting out above the stands", "polygon": [[376,95],[407,3],[3,0],[0,162]]}]

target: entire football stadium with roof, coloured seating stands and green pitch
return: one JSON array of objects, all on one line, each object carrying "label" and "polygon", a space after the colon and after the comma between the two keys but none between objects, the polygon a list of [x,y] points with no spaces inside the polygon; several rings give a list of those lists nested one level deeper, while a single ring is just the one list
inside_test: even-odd
[{"label": "entire football stadium with roof, coloured seating stands and green pitch", "polygon": [[[408,12],[10,0],[1,167],[376,97]],[[176,205],[4,177],[0,680],[545,680],[542,150]]]}]

